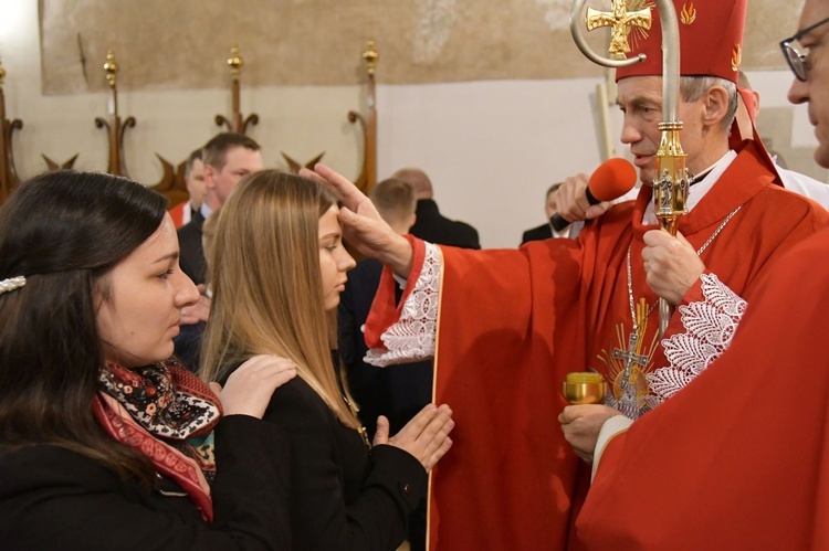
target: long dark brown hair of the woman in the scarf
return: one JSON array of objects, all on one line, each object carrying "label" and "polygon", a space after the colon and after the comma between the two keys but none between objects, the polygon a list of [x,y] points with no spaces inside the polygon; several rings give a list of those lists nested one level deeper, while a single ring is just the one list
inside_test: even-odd
[{"label": "long dark brown hair of the woman in the scarf", "polygon": [[[91,403],[103,367],[94,295],[109,271],[161,224],[166,200],[108,174],[49,172],[0,209],[0,441],[52,444],[122,476],[151,475],[148,459],[109,437]],[[105,284],[103,285],[105,287]]]}]

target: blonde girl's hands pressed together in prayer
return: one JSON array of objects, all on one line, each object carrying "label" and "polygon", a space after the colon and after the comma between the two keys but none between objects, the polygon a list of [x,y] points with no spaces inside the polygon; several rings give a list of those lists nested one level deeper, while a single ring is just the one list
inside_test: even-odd
[{"label": "blonde girl's hands pressed together in prayer", "polygon": [[413,455],[427,473],[452,447],[449,433],[454,428],[452,410],[447,404],[440,407],[429,404],[409,421],[395,436],[389,438],[389,421],[380,415],[377,418],[375,446],[388,444]]}]

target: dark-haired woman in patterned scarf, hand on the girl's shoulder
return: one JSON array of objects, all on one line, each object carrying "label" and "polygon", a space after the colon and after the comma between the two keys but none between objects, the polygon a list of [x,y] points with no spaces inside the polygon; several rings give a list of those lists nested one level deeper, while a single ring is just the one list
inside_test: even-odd
[{"label": "dark-haired woman in patterned scarf, hand on the girl's shoulder", "polygon": [[161,195],[67,171],[14,190],[0,209],[0,547],[287,548],[287,446],[261,416],[295,369],[254,358],[219,399],[169,360],[198,296]]}]

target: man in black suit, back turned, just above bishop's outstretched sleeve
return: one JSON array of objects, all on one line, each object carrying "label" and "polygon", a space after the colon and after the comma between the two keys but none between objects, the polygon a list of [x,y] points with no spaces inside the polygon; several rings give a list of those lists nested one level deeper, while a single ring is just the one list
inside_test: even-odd
[{"label": "man in black suit, back turned, just above bishop's outstretched sleeve", "polygon": [[391,178],[411,186],[418,199],[417,221],[410,230],[412,235],[438,245],[481,248],[478,230],[465,222],[449,220],[440,213],[438,203],[434,202],[432,182],[426,172],[417,168],[403,168]]}]

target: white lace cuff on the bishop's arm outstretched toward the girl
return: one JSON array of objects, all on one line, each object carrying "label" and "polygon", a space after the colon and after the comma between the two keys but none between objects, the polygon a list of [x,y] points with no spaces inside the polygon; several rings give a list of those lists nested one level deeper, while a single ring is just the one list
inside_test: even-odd
[{"label": "white lace cuff on the bishop's arm outstretched toward the girl", "polygon": [[386,349],[369,349],[367,363],[385,368],[434,357],[441,267],[440,250],[426,243],[423,266],[400,318],[380,336]]}]

